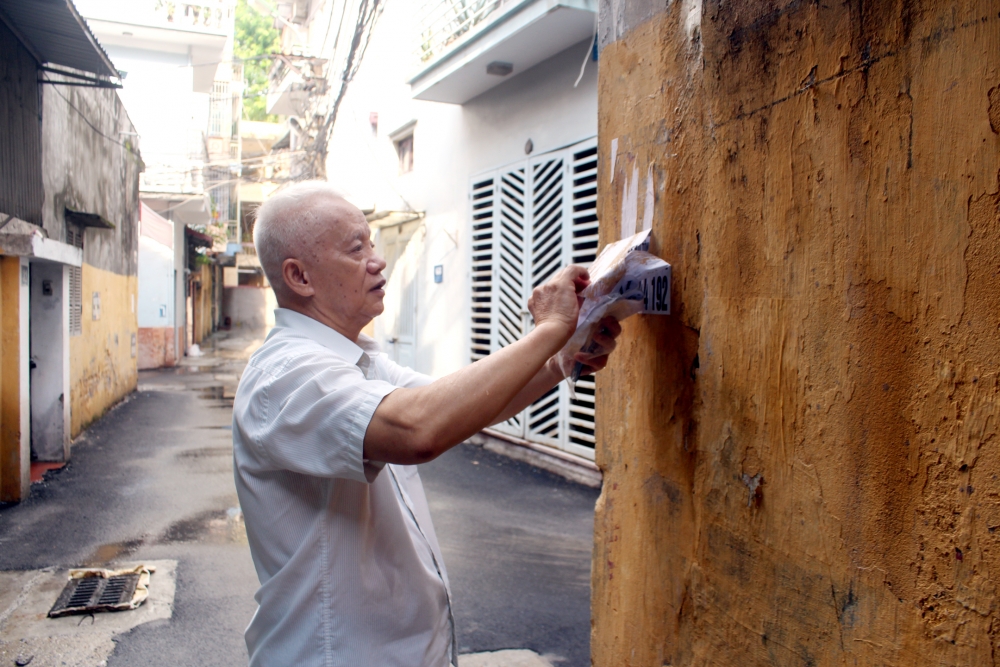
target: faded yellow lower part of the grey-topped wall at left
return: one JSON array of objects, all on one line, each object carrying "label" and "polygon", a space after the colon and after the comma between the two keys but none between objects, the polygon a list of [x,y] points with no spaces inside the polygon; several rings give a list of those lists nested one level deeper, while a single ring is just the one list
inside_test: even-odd
[{"label": "faded yellow lower part of the grey-topped wall at left", "polygon": [[[72,435],[76,437],[138,383],[137,276],[83,265],[83,333],[70,338]],[[93,318],[93,294],[100,293],[100,318]]]}]

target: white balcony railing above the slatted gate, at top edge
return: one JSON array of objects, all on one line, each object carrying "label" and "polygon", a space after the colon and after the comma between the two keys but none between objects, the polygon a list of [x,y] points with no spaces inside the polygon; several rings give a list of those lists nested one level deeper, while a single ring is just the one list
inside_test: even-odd
[{"label": "white balcony railing above the slatted gate, at top edge", "polygon": [[[421,8],[421,63],[439,58],[489,23],[491,15],[514,0],[428,0]],[[494,17],[495,18],[495,17]]]}]

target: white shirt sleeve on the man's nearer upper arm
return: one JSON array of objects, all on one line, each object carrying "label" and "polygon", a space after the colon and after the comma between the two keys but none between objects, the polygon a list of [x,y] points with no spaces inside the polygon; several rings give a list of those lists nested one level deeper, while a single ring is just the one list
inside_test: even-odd
[{"label": "white shirt sleeve on the man's nearer upper arm", "polygon": [[[375,409],[396,387],[366,380],[344,361],[292,360],[259,393],[263,402],[253,442],[275,468],[316,477],[371,482],[365,432]],[[366,474],[367,473],[367,474]]]}]

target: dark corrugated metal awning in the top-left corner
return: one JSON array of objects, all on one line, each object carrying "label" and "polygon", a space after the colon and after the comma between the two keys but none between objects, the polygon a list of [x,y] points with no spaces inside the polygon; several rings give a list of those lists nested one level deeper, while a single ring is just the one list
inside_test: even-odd
[{"label": "dark corrugated metal awning in the top-left corner", "polygon": [[0,0],[0,20],[24,42],[40,64],[118,76],[118,70],[71,0]]}]

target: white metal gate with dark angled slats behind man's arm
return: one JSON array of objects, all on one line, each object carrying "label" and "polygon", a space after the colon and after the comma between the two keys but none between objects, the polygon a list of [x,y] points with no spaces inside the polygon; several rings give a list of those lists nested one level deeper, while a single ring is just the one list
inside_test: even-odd
[{"label": "white metal gate with dark angled slats behind man's arm", "polygon": [[[471,357],[519,340],[534,326],[532,290],[567,264],[597,252],[597,142],[480,174],[472,179]],[[532,442],[594,458],[594,384],[565,383],[494,427]]]}]

